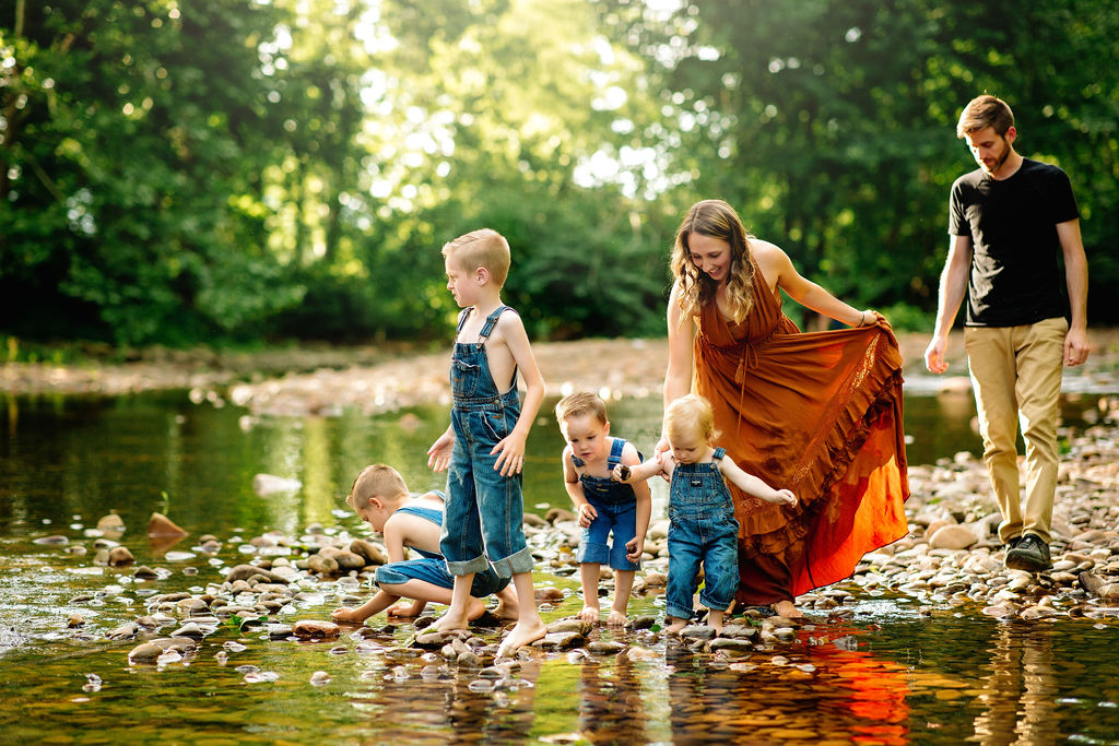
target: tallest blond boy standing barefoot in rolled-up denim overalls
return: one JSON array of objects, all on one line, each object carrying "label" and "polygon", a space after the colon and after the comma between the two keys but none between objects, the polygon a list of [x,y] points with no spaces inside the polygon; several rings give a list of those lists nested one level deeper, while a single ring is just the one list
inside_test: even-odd
[{"label": "tallest blond boy standing barefoot in rolled-up denim overalls", "polygon": [[[520,317],[501,303],[508,242],[483,228],[444,245],[443,257],[446,287],[463,311],[451,358],[451,426],[427,450],[433,469],[450,468],[440,549],[454,588],[439,629],[466,627],[473,576],[492,566],[500,577],[513,578],[520,601],[500,657],[545,633],[521,526],[525,441],[544,398],[544,378]],[[524,405],[518,369],[527,389]]]}]

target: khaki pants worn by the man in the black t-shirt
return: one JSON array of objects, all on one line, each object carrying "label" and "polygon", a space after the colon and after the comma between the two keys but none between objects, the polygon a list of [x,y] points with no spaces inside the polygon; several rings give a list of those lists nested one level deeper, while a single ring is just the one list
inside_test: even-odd
[{"label": "khaki pants worn by the man in the black t-shirt", "polygon": [[[967,327],[968,368],[979,410],[984,463],[990,473],[1005,542],[1024,531],[1052,540],[1056,491],[1056,423],[1069,322],[1046,319],[1023,327]],[[1026,443],[1025,512],[1018,492],[1018,424]]]}]

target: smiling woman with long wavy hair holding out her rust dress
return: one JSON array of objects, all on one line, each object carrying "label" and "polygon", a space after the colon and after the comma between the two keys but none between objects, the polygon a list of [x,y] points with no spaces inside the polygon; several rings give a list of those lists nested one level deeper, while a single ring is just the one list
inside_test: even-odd
[{"label": "smiling woman with long wavy hair holding out her rust dress", "polygon": [[[796,493],[786,508],[731,487],[737,603],[800,616],[796,596],[849,576],[909,530],[897,340],[880,314],[837,300],[747,235],[724,201],[688,210],[671,264],[665,406],[692,390],[707,397],[734,462]],[[852,329],[801,333],[778,289]]]}]

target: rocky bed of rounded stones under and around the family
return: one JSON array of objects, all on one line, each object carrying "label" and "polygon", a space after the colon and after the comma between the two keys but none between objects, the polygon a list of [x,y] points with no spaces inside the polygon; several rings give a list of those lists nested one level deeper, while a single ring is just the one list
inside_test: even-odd
[{"label": "rocky bed of rounded stones under and around the family", "polygon": [[[788,661],[782,658],[783,645],[798,639],[798,627],[850,621],[859,599],[883,595],[909,596],[921,615],[963,612],[1038,624],[1090,617],[1115,624],[1119,615],[1119,400],[1107,403],[1100,424],[1084,432],[1062,431],[1062,437],[1066,453],[1054,511],[1052,570],[1032,574],[1005,568],[996,535],[998,510],[986,471],[971,454],[960,453],[911,468],[910,535],[868,554],[849,580],[798,598],[806,618],[739,610],[722,636],[696,624],[667,644],[717,654],[732,664],[754,665],[756,659],[751,657],[758,654]],[[295,536],[201,536],[189,550],[164,549],[163,563],[141,567],[121,542],[122,529],[115,516],[106,516],[97,529],[84,531],[85,540],[54,535],[36,544],[56,545],[59,553],[87,557],[91,566],[112,570],[105,588],[73,598],[72,606],[112,604],[116,596],[132,592],[142,599],[141,613],[112,629],[98,629],[96,621],[81,613],[59,620],[78,641],[132,641],[123,654],[133,665],[167,665],[197,655],[200,641],[233,625],[245,636],[223,644],[216,653],[222,664],[235,663],[244,645],[261,644],[253,640],[319,641],[340,650],[357,645],[377,652],[395,665],[419,667],[422,677],[449,676],[449,667],[476,669],[476,686],[492,688],[515,687],[518,662],[534,657],[648,658],[658,654],[658,643],[666,642],[658,614],[633,614],[628,630],[605,635],[605,627],[574,617],[582,606],[573,597],[577,594],[547,580],[577,573],[574,550],[580,531],[572,514],[562,509],[553,508],[543,518],[526,516],[525,530],[539,570],[537,602],[553,621],[543,640],[509,660],[496,658],[502,625],[491,615],[463,633],[429,631],[435,618],[431,612],[416,620],[374,617],[368,625],[329,621],[330,608],[359,604],[373,593],[373,575],[386,558],[375,538],[354,533],[342,522],[309,526]],[[158,514],[147,533],[148,541],[164,546],[182,538]],[[634,586],[637,598],[664,594],[666,533],[667,522],[655,521]],[[204,582],[197,567],[184,566],[195,557],[206,558],[220,578]],[[128,591],[122,577],[131,586]],[[602,584],[612,589],[609,570]],[[318,612],[309,613],[309,608]],[[246,681],[266,674],[252,667],[244,673]]]}]

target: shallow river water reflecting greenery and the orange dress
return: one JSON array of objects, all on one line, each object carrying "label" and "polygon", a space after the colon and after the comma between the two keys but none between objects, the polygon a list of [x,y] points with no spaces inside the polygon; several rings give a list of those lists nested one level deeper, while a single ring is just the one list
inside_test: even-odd
[{"label": "shallow river water reflecting greenery and the orange dress", "polygon": [[[0,405],[2,743],[1119,743],[1113,620],[999,622],[854,584],[841,617],[812,615],[777,651],[709,655],[648,632],[603,631],[636,653],[539,654],[489,689],[474,671],[436,670],[433,657],[402,652],[411,625],[386,627],[384,617],[370,620],[378,629],[367,640],[330,643],[226,625],[195,655],[130,665],[135,642],[105,632],[142,615],[156,593],[219,583],[248,558],[239,547],[252,537],[313,525],[360,533],[342,498],[367,463],[395,465],[414,491],[441,488],[424,451],[446,413],[255,419],[192,405],[181,391]],[[969,396],[905,406],[911,463],[978,452]],[[1070,399],[1065,416],[1093,406]],[[651,399],[611,403],[612,432],[649,447],[659,410]],[[547,408],[528,445],[527,508],[567,507]],[[258,497],[257,473],[302,489]],[[655,488],[655,518],[664,498]],[[189,536],[149,545],[154,511]],[[121,541],[138,564],[160,578],[93,563],[90,529],[110,512],[123,519]],[[217,557],[195,548],[205,533],[223,541]],[[36,542],[48,536],[66,544]],[[579,611],[574,576],[534,577],[565,595],[543,608],[547,621]],[[289,621],[329,618],[339,605],[330,584],[302,595]],[[651,598],[631,604],[631,615],[658,611]],[[75,614],[85,623],[70,627]],[[313,686],[316,671],[329,682]]]}]

